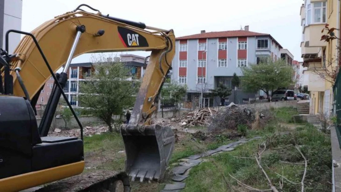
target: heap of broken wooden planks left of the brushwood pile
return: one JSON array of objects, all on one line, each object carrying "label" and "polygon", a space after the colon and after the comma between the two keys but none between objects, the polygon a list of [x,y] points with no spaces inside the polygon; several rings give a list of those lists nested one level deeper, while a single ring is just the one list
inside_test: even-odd
[{"label": "heap of broken wooden planks left of the brushwood pile", "polygon": [[187,113],[180,117],[182,126],[204,126],[208,125],[206,120],[216,114],[217,111],[210,108],[203,108],[195,110],[194,112]]}]

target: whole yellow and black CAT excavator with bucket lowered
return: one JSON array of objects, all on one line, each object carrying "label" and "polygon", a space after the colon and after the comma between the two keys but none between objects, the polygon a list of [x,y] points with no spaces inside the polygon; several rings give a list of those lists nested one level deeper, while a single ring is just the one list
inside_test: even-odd
[{"label": "whole yellow and black CAT excavator with bucket lowered", "polygon": [[[82,7],[91,9],[84,11]],[[14,53],[9,36],[25,35]],[[173,30],[102,14],[89,5],[48,20],[30,33],[9,30],[0,49],[0,192],[40,186],[45,191],[130,191],[130,180],[164,178],[175,137],[151,115],[175,54]],[[72,58],[84,53],[151,51],[128,124],[120,127],[127,160],[124,172],[84,172],[83,127],[63,87]],[[63,71],[57,73],[61,67]],[[55,81],[42,120],[35,105],[46,81]],[[78,137],[48,136],[63,97],[80,126]],[[44,187],[45,186],[45,187]]]}]

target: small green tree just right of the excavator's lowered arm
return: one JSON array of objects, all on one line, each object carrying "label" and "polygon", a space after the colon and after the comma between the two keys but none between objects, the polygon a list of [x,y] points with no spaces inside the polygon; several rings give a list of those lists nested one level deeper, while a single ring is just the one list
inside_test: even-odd
[{"label": "small green tree just right of the excavator's lowered arm", "polygon": [[179,112],[180,104],[186,95],[187,85],[181,85],[175,80],[168,80],[169,83],[165,83],[161,88],[160,100],[161,100],[161,115],[163,117],[163,104],[172,103],[175,105],[174,113]]}]

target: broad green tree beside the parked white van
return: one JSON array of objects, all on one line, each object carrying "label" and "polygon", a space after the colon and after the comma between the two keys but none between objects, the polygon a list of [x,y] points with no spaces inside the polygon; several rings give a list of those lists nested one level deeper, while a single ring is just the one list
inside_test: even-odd
[{"label": "broad green tree beside the parked white van", "polygon": [[241,68],[241,71],[243,73],[241,83],[246,90],[250,92],[263,90],[269,101],[270,91],[273,93],[278,88],[289,87],[295,83],[292,79],[294,70],[284,60],[251,64],[248,67]]}]

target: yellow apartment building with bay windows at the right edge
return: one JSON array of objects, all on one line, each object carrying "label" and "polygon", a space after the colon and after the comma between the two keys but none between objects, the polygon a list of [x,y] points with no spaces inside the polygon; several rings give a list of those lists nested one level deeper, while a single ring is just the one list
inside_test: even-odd
[{"label": "yellow apartment building with bay windows at the right edge", "polygon": [[[308,75],[308,91],[310,91],[310,114],[331,113],[333,92],[332,85],[318,74],[323,72],[329,63],[337,65],[338,40],[331,42],[321,41],[321,36],[326,24],[330,28],[340,28],[340,0],[303,0],[300,10],[302,41],[301,57],[303,67],[307,67],[305,75]],[[339,30],[335,35],[340,37]]]}]

